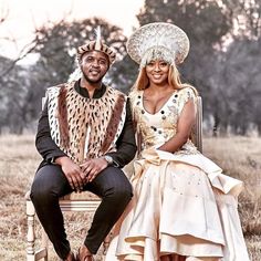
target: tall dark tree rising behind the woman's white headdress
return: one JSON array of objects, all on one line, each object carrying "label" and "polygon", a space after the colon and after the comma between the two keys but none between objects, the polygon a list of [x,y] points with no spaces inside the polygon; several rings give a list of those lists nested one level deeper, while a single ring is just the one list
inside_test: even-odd
[{"label": "tall dark tree rising behind the woman's white headdress", "polygon": [[[203,97],[205,117],[213,114],[211,95],[213,65],[222,46],[223,36],[230,31],[232,20],[228,19],[217,1],[207,0],[147,0],[137,15],[140,25],[148,22],[171,22],[180,27],[189,36],[190,52],[179,66],[184,82],[194,84]],[[216,103],[215,103],[216,104]]]}]

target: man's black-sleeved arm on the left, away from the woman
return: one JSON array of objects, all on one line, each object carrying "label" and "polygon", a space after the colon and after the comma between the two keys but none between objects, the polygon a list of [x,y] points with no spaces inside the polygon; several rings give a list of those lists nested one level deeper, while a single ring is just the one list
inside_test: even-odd
[{"label": "man's black-sleeved arm on the left, away from the woman", "polygon": [[51,137],[51,130],[48,117],[48,101],[42,111],[42,115],[38,124],[38,134],[35,137],[35,147],[38,152],[42,155],[45,161],[54,161],[55,158],[66,156],[54,143]]}]

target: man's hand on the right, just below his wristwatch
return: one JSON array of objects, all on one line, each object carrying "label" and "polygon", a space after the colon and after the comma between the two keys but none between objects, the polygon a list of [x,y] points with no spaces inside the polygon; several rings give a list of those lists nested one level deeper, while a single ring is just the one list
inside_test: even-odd
[{"label": "man's hand on the right, just below his wristwatch", "polygon": [[86,159],[83,164],[80,165],[82,171],[86,177],[86,182],[92,182],[93,179],[107,166],[108,164],[104,158]]}]

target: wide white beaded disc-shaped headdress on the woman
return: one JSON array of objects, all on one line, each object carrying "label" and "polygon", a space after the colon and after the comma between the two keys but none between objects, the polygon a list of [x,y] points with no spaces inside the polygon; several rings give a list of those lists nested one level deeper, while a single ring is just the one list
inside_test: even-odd
[{"label": "wide white beaded disc-shaped headdress on the woman", "polygon": [[155,22],[136,30],[127,41],[129,56],[144,67],[152,60],[182,63],[189,52],[189,39],[177,25]]}]

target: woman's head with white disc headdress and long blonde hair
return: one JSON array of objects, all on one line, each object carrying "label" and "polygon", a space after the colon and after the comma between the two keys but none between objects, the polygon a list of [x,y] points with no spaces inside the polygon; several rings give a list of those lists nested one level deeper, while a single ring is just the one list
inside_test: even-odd
[{"label": "woman's head with white disc headdress and long blonde hair", "polygon": [[[189,39],[178,27],[171,23],[156,22],[145,24],[136,30],[128,39],[127,52],[139,64],[139,74],[134,88],[144,90],[149,84],[168,84],[174,90],[182,88],[176,64],[180,64],[189,52]],[[159,64],[168,73],[149,71],[150,65]],[[160,80],[160,81],[159,81]],[[161,81],[163,80],[163,81]]]}]

